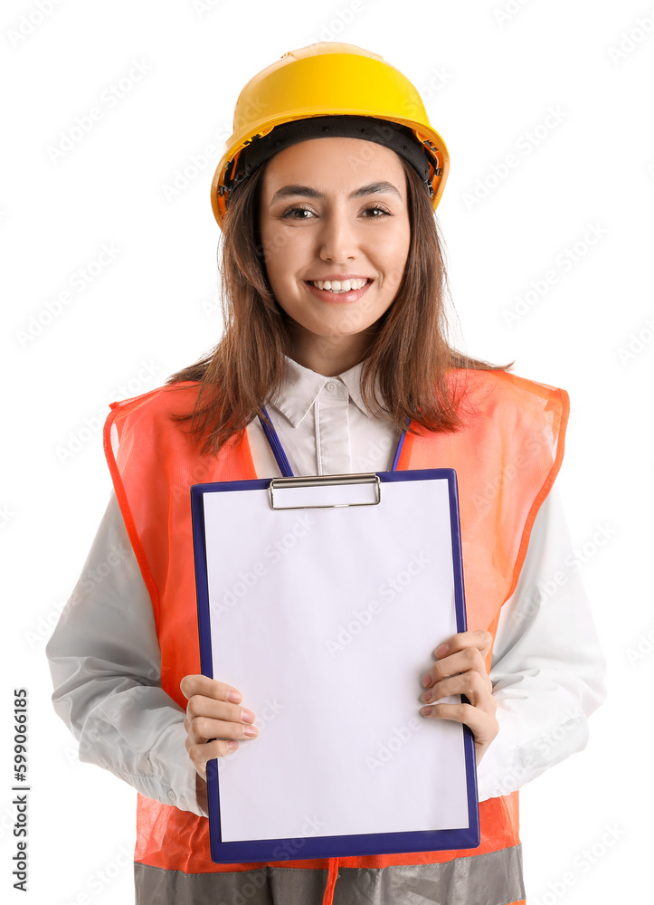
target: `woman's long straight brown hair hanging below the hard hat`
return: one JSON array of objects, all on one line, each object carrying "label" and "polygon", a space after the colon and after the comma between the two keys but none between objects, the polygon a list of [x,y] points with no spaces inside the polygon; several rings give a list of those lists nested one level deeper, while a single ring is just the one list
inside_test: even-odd
[{"label": "woman's long straight brown hair hanging below the hard hat", "polygon": [[[411,418],[428,431],[451,432],[461,426],[459,392],[456,382],[448,380],[451,370],[507,370],[513,362],[491,365],[450,347],[444,242],[420,177],[400,160],[407,180],[411,241],[397,295],[368,331],[371,343],[361,368],[361,395],[374,417],[398,431]],[[270,290],[261,245],[264,171],[265,164],[232,192],[223,222],[222,265],[219,246],[223,338],[208,355],[166,381],[200,384],[193,411],[173,417],[190,422],[202,453],[219,452],[257,415],[265,420],[261,406],[280,389],[284,355],[292,357],[290,319]],[[410,427],[407,433],[418,432]]]}]

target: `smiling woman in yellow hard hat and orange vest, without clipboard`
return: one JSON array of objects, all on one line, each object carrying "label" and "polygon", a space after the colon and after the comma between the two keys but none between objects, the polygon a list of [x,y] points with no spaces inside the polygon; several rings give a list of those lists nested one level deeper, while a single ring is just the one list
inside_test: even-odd
[{"label": "smiling woman in yellow hard hat and orange vest, without clipboard", "polygon": [[[402,73],[313,44],[245,86],[234,126],[212,186],[226,331],[112,406],[115,495],[88,565],[112,544],[134,556],[64,610],[55,708],[81,759],[139,792],[142,905],[523,902],[517,788],[583,748],[604,695],[578,576],[543,590],[569,549],[553,489],[567,395],[449,347],[433,216],[449,158]],[[296,474],[386,471],[402,440],[399,469],[456,468],[469,631],[433,639],[416,693],[425,719],[474,734],[479,849],[211,861],[206,763],[258,729],[229,676],[199,674],[188,488],[279,475],[264,419]],[[449,694],[469,703],[433,703]]]}]

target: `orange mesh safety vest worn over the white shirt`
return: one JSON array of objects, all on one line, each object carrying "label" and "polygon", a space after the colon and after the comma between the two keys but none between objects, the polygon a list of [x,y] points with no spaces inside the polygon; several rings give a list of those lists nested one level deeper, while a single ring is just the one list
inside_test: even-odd
[{"label": "orange mesh safety vest worn over the white shirt", "polygon": [[[456,470],[468,627],[487,629],[494,639],[502,605],[516,588],[536,513],[561,466],[568,395],[503,371],[456,370],[450,379],[464,381],[466,387],[460,406],[464,427],[456,433],[421,430],[420,436],[407,434],[397,468]],[[193,382],[164,386],[112,403],[104,434],[120,509],[152,599],[161,646],[161,685],[184,710],[187,701],[179,683],[185,675],[201,672],[189,488],[204,481],[257,478],[246,431],[235,434],[217,456],[200,456],[189,442],[185,427],[171,419],[172,412],[190,412],[198,386]],[[488,653],[488,669],[490,661]],[[229,676],[223,679],[228,681]],[[187,884],[192,878],[206,883],[207,874],[212,873],[235,875],[280,869],[312,872],[313,879],[323,877],[316,872],[327,870],[323,902],[331,905],[336,878],[355,874],[347,870],[339,874],[339,867],[354,868],[357,874],[386,869],[388,878],[398,865],[403,866],[403,877],[411,876],[412,889],[423,889],[425,900],[436,900],[430,893],[435,889],[430,885],[431,872],[441,865],[448,870],[459,870],[463,865],[463,874],[460,872],[455,881],[459,894],[469,888],[465,883],[460,885],[465,875],[470,878],[470,890],[483,889],[484,901],[490,902],[486,894],[494,876],[501,885],[507,882],[507,875],[515,878],[519,874],[518,890],[508,894],[519,905],[525,900],[517,866],[521,864],[517,791],[481,802],[479,816],[481,844],[476,849],[216,864],[210,857],[206,817],[139,794],[137,887],[142,874],[146,879],[142,877],[141,889],[156,892],[152,898],[142,893],[138,901],[154,905],[183,900],[181,895],[166,899],[164,894],[174,888],[168,879],[179,881],[180,875],[186,885],[175,890],[183,888],[188,895],[192,887]],[[454,865],[451,862],[455,859],[462,861]],[[409,874],[408,865],[414,865]],[[478,870],[473,876],[475,865]],[[289,878],[289,873],[286,876]],[[504,896],[498,901],[507,902],[507,891],[498,895]],[[241,898],[251,901],[248,896]],[[401,898],[401,893],[395,898]],[[190,895],[186,900],[200,900],[200,896]],[[211,900],[217,901],[213,896]],[[479,898],[465,894],[461,900]]]}]

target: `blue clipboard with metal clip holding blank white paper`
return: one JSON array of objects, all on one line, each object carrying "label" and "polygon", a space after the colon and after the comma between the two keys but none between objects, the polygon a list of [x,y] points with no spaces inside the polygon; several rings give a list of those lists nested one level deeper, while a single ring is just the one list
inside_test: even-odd
[{"label": "blue clipboard with metal clip holding blank white paper", "polygon": [[466,630],[456,472],[195,484],[191,508],[202,672],[260,729],[207,763],[213,862],[478,847],[473,733],[420,713]]}]

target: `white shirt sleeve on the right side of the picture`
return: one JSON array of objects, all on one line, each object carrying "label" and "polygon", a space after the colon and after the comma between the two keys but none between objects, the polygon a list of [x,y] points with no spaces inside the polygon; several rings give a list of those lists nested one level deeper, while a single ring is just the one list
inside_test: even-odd
[{"label": "white shirt sleeve on the right side of the picture", "polygon": [[588,740],[606,663],[556,484],[541,506],[502,607],[490,680],[499,731],[478,767],[479,801],[508,795]]}]

